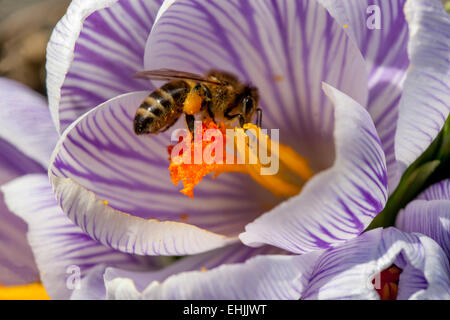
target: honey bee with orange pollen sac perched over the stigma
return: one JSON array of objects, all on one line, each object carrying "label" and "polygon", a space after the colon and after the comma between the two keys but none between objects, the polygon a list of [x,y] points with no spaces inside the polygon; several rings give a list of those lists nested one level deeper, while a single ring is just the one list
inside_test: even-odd
[{"label": "honey bee with orange pollen sac perched over the stigma", "polygon": [[143,71],[136,78],[168,80],[153,91],[141,103],[134,118],[134,132],[158,134],[169,129],[184,113],[191,133],[197,118],[210,118],[216,123],[231,127],[252,121],[255,114],[257,125],[261,125],[262,111],[258,108],[258,90],[241,83],[230,73],[211,70],[205,76],[171,70],[159,69]]}]

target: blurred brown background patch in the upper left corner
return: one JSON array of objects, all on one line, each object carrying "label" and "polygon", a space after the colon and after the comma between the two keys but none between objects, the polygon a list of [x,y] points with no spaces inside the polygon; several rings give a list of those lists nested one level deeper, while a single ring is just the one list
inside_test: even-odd
[{"label": "blurred brown background patch in the upper left corner", "polygon": [[0,76],[45,94],[45,48],[68,0],[0,0]]}]

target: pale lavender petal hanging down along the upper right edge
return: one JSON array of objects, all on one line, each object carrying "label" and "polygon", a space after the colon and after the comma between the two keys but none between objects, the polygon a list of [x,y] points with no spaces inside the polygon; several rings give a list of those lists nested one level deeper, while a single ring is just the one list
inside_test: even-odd
[{"label": "pale lavender petal hanging down along the upper right edge", "polygon": [[439,0],[408,1],[411,67],[399,105],[395,154],[404,167],[441,130],[450,111],[450,15]]}]

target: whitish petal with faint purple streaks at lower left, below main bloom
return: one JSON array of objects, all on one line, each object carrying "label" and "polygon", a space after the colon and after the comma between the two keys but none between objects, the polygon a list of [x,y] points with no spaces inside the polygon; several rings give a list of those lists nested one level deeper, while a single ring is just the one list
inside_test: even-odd
[{"label": "whitish petal with faint purple streaks at lower left, below main bloom", "polygon": [[137,257],[92,240],[75,226],[56,203],[46,175],[17,178],[2,191],[9,209],[28,224],[28,241],[50,298],[69,298],[77,282],[100,264],[148,267]]}]

